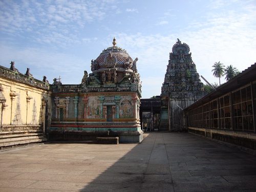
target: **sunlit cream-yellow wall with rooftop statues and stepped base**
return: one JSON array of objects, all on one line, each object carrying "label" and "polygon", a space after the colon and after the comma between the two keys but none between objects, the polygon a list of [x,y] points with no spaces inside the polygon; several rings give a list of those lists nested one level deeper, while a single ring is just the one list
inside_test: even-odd
[{"label": "sunlit cream-yellow wall with rooftop statues and stepped base", "polygon": [[19,73],[0,66],[0,146],[45,141],[50,125],[49,83],[37,80],[27,69]]}]

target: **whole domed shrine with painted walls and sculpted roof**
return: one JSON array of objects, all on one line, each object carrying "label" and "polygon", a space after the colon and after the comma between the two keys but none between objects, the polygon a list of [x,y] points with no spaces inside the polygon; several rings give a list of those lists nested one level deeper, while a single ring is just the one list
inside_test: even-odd
[{"label": "whole domed shrine with painted walls and sculpted roof", "polygon": [[117,47],[114,38],[112,47],[92,59],[92,73],[84,71],[81,84],[55,83],[50,138],[88,140],[115,136],[120,142],[141,142],[137,61]]}]

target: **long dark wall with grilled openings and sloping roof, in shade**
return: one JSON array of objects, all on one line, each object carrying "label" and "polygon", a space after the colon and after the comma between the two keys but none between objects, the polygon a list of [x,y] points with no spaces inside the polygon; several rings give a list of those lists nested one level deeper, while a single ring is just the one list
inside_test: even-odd
[{"label": "long dark wall with grilled openings and sloping roof, in shade", "polygon": [[190,133],[256,150],[256,63],[184,111]]}]

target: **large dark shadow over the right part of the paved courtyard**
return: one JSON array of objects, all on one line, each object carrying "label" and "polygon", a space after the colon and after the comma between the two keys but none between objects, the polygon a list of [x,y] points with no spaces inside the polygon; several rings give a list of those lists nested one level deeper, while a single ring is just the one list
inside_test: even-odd
[{"label": "large dark shadow over the right part of the paved courtyard", "polygon": [[255,156],[188,133],[145,136],[80,191],[256,190]]}]

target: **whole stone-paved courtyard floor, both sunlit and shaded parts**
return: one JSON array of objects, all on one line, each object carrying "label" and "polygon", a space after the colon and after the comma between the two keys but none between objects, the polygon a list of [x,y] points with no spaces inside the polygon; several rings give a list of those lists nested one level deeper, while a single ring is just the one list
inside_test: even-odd
[{"label": "whole stone-paved courtyard floor, both sunlit and shaded parts", "polygon": [[0,152],[0,191],[256,191],[256,157],[189,133]]}]

